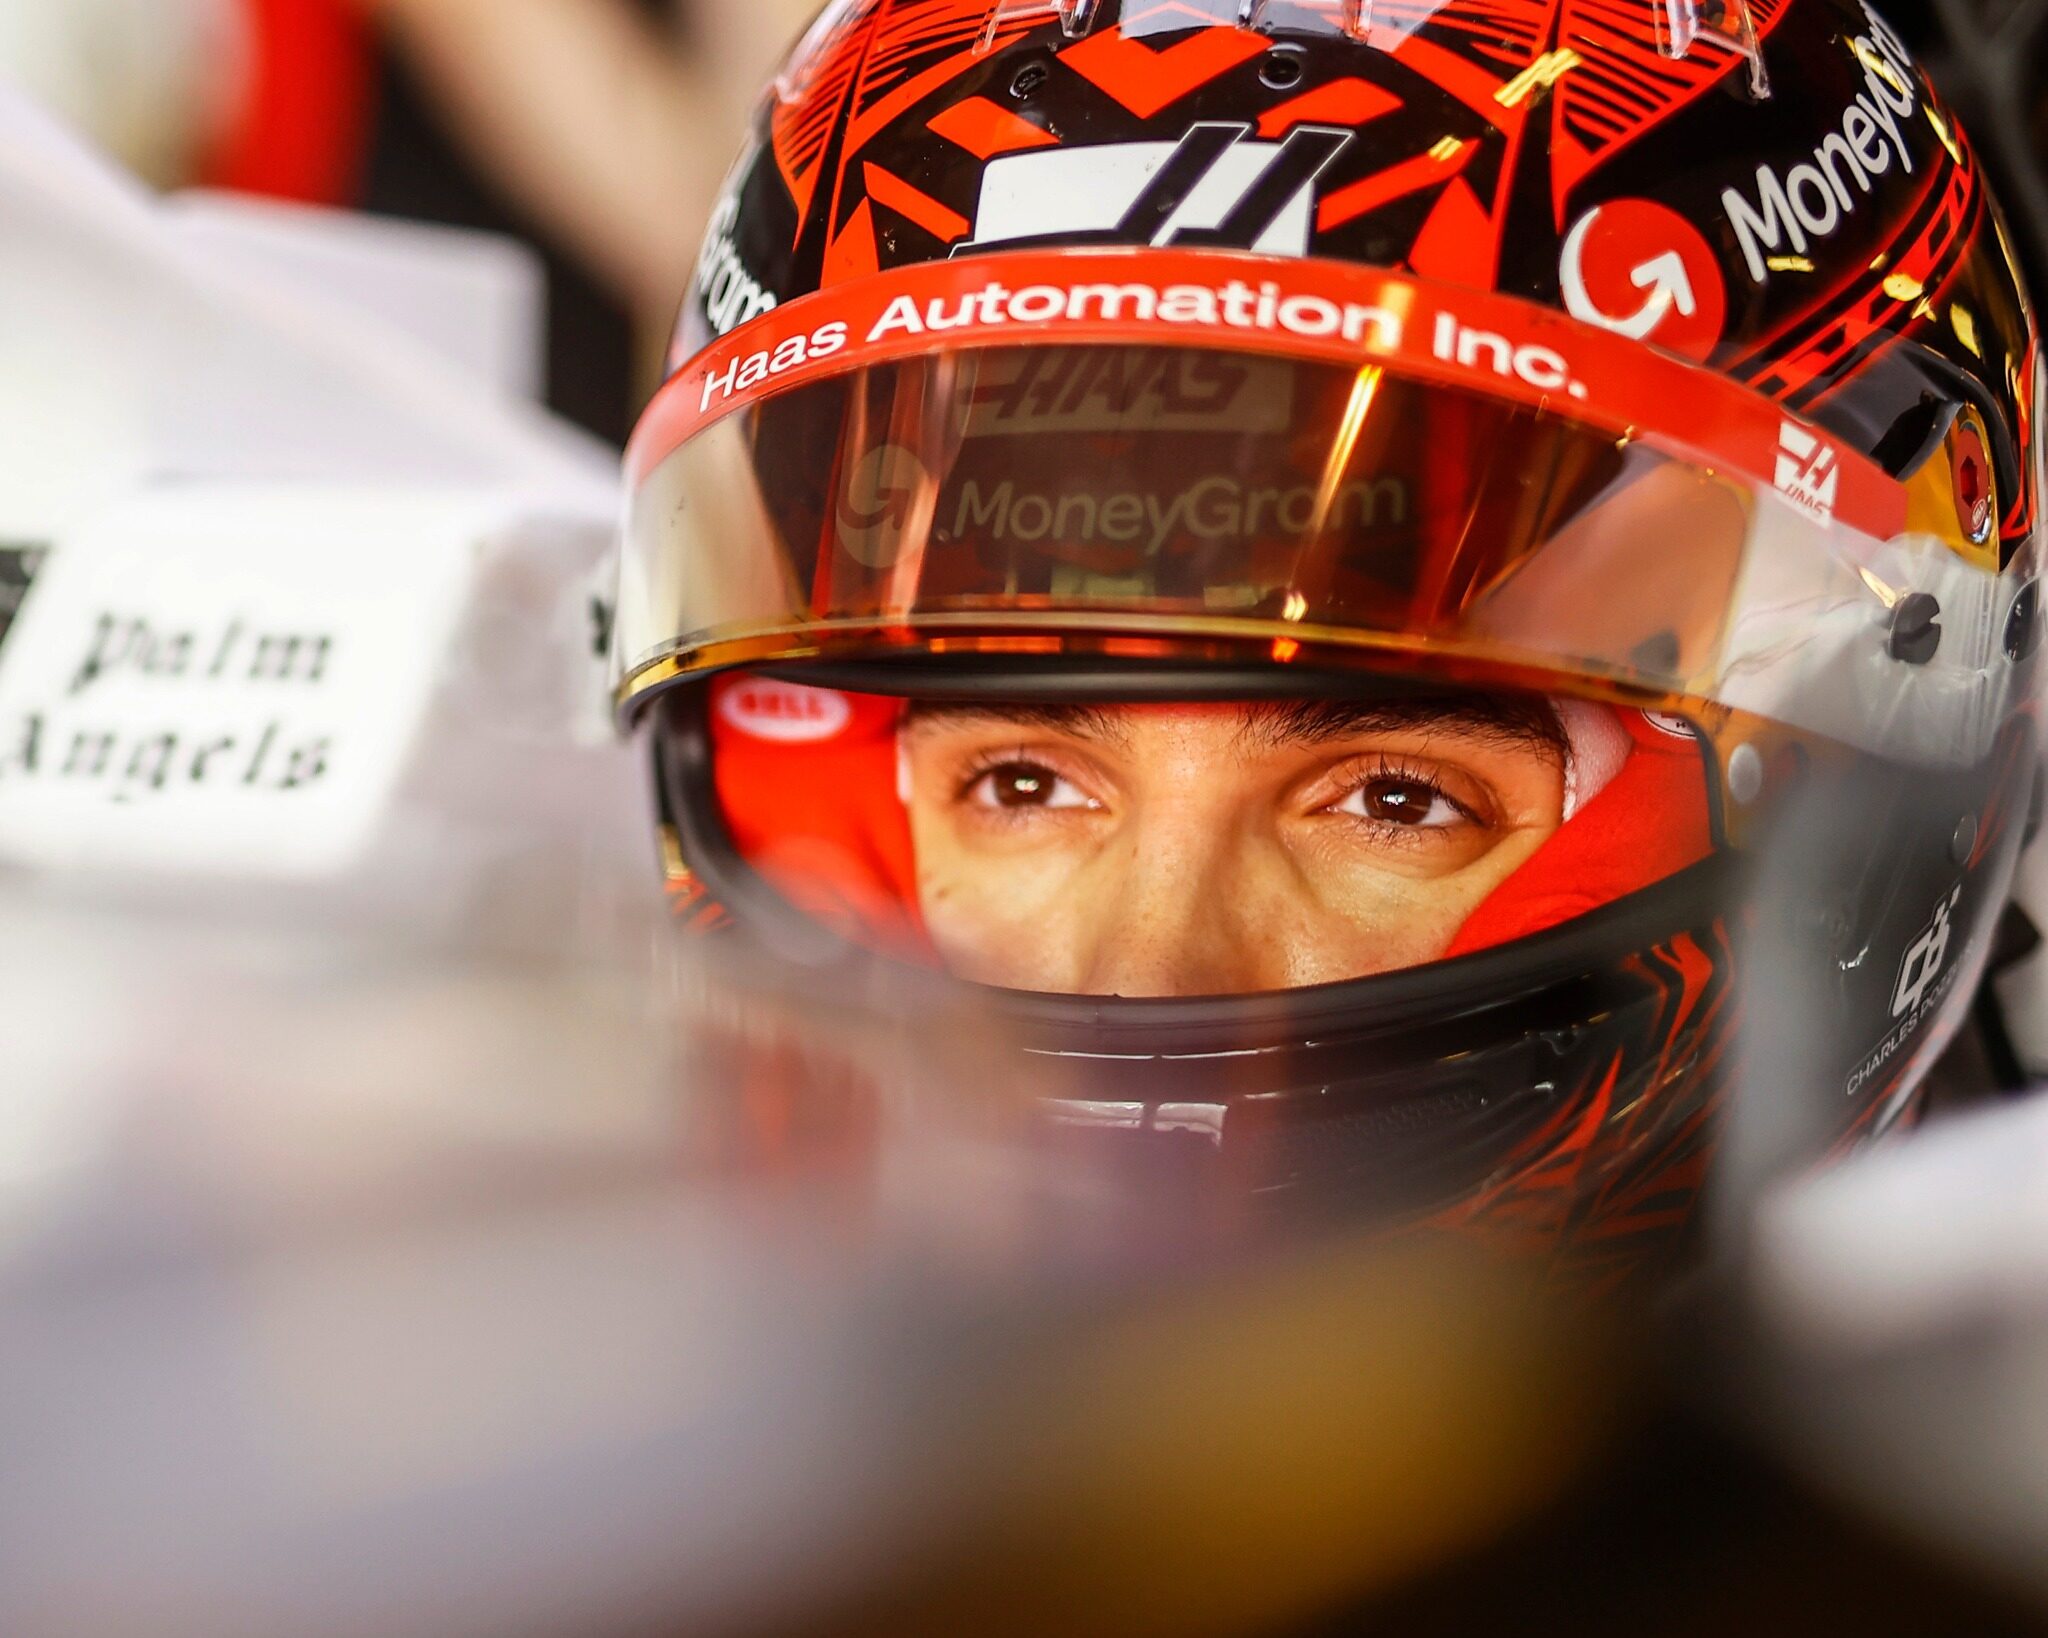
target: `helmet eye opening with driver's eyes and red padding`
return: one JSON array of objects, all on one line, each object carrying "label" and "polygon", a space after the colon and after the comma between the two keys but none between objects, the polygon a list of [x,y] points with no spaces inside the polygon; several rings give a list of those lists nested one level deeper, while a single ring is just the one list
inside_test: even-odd
[{"label": "helmet eye opening with driver's eyes and red padding", "polygon": [[1047,704],[713,686],[725,829],[842,934],[1008,989],[1245,995],[1556,925],[1704,858],[1671,719],[1522,694]]}]

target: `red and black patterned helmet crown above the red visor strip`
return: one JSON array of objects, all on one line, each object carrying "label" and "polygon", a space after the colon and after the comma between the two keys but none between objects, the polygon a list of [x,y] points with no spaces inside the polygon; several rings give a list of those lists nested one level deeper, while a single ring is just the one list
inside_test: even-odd
[{"label": "red and black patterned helmet crown above the red visor strip", "polygon": [[1892,471],[1968,403],[2007,553],[2032,528],[2019,274],[1866,0],[840,0],[760,109],[676,358],[840,281],[1024,244],[1499,291],[1706,362]]}]

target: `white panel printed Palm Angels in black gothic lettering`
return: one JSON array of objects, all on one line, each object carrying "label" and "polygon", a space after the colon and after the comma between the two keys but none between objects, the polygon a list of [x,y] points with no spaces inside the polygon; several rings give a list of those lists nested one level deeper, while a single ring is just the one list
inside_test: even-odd
[{"label": "white panel printed Palm Angels in black gothic lettering", "polygon": [[0,858],[350,864],[504,512],[489,495],[221,483],[98,512],[49,553],[0,649]]}]

